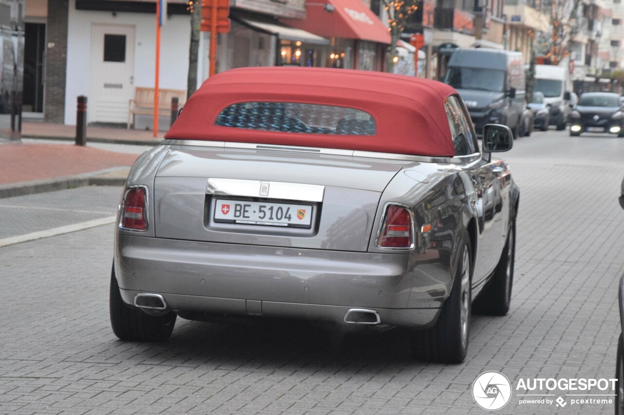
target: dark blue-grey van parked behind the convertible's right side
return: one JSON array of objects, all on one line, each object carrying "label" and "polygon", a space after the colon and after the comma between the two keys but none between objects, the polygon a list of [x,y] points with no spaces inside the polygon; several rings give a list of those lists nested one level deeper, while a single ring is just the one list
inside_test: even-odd
[{"label": "dark blue-grey van parked behind the convertible's right side", "polygon": [[466,102],[480,135],[488,123],[507,125],[519,136],[526,108],[522,53],[499,49],[455,49],[444,82]]}]

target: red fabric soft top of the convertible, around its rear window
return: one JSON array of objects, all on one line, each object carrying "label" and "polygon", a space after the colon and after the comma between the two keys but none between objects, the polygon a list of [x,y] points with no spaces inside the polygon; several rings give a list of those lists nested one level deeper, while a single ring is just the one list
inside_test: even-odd
[{"label": "red fabric soft top of the convertible, around its rear window", "polygon": [[[188,100],[165,138],[341,148],[422,156],[455,155],[441,82],[346,69],[255,67],[210,77]],[[215,125],[227,107],[295,102],[355,108],[374,118],[374,135],[312,134]]]}]

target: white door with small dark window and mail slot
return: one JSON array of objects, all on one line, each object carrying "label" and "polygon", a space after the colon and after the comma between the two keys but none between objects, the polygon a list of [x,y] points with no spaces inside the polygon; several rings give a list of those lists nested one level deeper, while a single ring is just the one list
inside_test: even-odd
[{"label": "white door with small dark window and mail slot", "polygon": [[127,123],[132,98],[134,26],[92,25],[89,122]]}]

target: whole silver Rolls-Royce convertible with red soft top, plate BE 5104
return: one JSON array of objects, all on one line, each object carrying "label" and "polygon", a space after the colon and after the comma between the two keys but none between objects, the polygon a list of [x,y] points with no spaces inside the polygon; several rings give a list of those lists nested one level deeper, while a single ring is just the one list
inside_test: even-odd
[{"label": "whole silver Rolls-Royce convertible with red soft top, plate BE 5104", "polygon": [[[419,358],[461,362],[472,298],[509,310],[517,188],[509,128],[479,150],[444,83],[309,68],[210,77],[120,203],[110,320],[166,340],[177,316],[411,329]],[[476,296],[480,293],[480,297]]]}]

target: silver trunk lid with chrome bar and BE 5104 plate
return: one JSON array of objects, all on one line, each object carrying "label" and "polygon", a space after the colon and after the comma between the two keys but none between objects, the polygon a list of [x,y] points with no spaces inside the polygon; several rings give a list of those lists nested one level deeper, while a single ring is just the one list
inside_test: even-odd
[{"label": "silver trunk lid with chrome bar and BE 5104 plate", "polygon": [[[373,221],[381,193],[409,163],[296,151],[172,146],[154,183],[155,236],[364,252],[376,229]],[[220,189],[215,183],[236,186]],[[268,197],[260,196],[261,183],[270,184],[273,193]],[[247,190],[236,191],[243,188]],[[265,210],[283,206],[285,211],[290,207],[293,217],[310,211],[311,215],[301,222],[307,225],[300,227],[258,225],[253,220],[223,220],[224,205],[232,212],[235,206],[240,212],[246,205],[253,214],[260,206]]]}]

